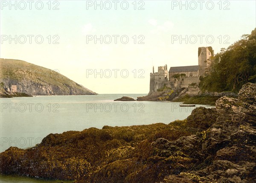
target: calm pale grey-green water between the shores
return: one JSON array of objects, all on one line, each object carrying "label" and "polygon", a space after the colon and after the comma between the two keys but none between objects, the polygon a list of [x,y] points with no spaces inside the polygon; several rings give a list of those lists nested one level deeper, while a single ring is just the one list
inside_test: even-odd
[{"label": "calm pale grey-green water between the shores", "polygon": [[[50,133],[82,131],[85,128],[170,123],[185,119],[195,107],[179,107],[180,102],[114,102],[122,96],[146,94],[101,94],[97,96],[37,96],[0,99],[0,152],[10,146],[29,148]],[[196,107],[205,105],[197,105]],[[13,178],[13,180],[11,180]],[[16,180],[15,180],[16,179]],[[4,183],[38,183],[1,176]],[[49,181],[46,181],[49,182]]]}]

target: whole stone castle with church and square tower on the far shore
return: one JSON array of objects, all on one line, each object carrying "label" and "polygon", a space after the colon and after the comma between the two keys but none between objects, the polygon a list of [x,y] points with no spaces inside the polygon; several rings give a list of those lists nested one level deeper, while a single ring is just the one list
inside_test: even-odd
[{"label": "whole stone castle with church and square tower on the far shore", "polygon": [[164,86],[173,90],[178,88],[187,88],[191,84],[199,84],[199,77],[209,69],[211,57],[214,56],[214,50],[211,46],[198,48],[198,65],[170,67],[167,65],[158,67],[157,73],[150,73],[150,91],[149,94],[156,92]]}]

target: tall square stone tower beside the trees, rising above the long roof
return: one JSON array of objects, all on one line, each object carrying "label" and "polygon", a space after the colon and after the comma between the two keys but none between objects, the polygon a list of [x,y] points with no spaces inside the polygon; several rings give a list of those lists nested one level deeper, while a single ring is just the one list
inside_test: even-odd
[{"label": "tall square stone tower beside the trees, rising above the long roof", "polygon": [[198,48],[198,75],[204,74],[207,67],[211,65],[211,57],[214,56],[212,46]]}]

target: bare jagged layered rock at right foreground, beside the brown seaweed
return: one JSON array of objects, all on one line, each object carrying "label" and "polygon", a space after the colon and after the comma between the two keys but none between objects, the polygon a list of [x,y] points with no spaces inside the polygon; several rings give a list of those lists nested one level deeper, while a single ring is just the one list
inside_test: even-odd
[{"label": "bare jagged layered rock at right foreground, beside the brown seaweed", "polygon": [[[163,183],[251,183],[256,179],[256,84],[247,83],[238,99],[221,97],[216,102],[218,117],[199,139],[187,137],[191,154],[178,139],[166,148],[194,156],[199,161],[189,171],[166,177]],[[190,116],[189,116],[190,117]],[[180,143],[177,143],[179,142]],[[200,142],[195,145],[195,142]],[[178,145],[177,145],[178,144]],[[162,150],[163,151],[163,150]],[[162,183],[162,182],[161,182]]]}]

